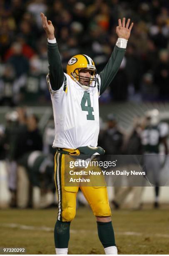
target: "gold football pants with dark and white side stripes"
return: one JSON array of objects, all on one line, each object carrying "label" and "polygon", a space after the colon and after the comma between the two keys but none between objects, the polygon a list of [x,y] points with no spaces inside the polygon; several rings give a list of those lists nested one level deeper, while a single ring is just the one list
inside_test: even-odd
[{"label": "gold football pants with dark and white side stripes", "polygon": [[58,220],[68,222],[75,218],[76,196],[79,187],[95,216],[111,216],[106,187],[65,186],[65,156],[65,154],[59,152],[55,155],[55,185],[58,195]]}]

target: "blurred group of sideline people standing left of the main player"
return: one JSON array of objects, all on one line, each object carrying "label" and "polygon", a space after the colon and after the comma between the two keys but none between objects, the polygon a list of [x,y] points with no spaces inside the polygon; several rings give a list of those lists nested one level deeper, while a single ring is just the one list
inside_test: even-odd
[{"label": "blurred group of sideline people standing left of the main player", "polygon": [[41,131],[37,115],[27,113],[26,108],[10,111],[5,119],[6,125],[0,127],[0,207],[36,208],[52,204],[54,121]]}]

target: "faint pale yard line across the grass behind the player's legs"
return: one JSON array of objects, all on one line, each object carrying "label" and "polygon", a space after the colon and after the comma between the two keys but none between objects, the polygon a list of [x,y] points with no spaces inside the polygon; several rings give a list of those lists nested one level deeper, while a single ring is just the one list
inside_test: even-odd
[{"label": "faint pale yard line across the grass behind the player's legs", "polygon": [[[21,225],[17,223],[4,223],[0,224],[0,227],[7,227],[7,228],[20,228],[23,230],[40,230],[40,231],[46,231],[46,232],[53,232],[54,228],[49,228],[46,226],[29,226],[29,225]],[[78,229],[79,233],[87,233],[87,232],[92,232],[96,233],[97,231],[93,230],[85,230],[85,229]],[[70,230],[70,233],[77,233],[77,230]],[[148,234],[148,233],[139,233],[139,232],[132,232],[132,231],[125,231],[125,232],[116,232],[117,235],[122,235],[122,236],[158,236],[158,237],[163,237],[163,238],[169,238],[168,234],[159,234],[159,233],[153,233],[153,234]]]}]

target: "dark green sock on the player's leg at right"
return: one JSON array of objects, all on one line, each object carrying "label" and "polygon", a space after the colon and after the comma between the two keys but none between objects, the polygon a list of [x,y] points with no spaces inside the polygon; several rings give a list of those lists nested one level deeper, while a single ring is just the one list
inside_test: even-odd
[{"label": "dark green sock on the player's leg at right", "polygon": [[104,248],[109,246],[116,246],[112,221],[109,221],[109,222],[97,221],[97,231],[98,231],[100,242],[102,243]]}]

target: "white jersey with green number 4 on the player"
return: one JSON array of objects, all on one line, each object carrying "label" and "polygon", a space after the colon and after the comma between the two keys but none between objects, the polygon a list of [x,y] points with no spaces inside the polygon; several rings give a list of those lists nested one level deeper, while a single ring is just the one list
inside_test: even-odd
[{"label": "white jersey with green number 4 on the player", "polygon": [[[74,149],[82,146],[95,147],[99,136],[97,84],[96,87],[84,90],[69,75],[65,74],[65,76],[66,87],[63,82],[57,91],[52,90],[47,77],[55,121],[53,147]],[[100,82],[100,77],[98,79]]]}]

